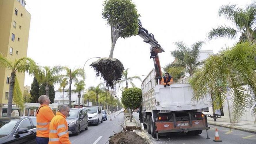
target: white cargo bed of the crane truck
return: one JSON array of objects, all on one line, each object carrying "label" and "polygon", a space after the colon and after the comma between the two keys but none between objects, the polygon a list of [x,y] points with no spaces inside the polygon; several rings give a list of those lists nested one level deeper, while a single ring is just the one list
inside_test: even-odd
[{"label": "white cargo bed of the crane truck", "polygon": [[207,111],[204,108],[211,106],[210,95],[200,102],[191,100],[193,90],[188,83],[172,84],[166,88],[163,85],[155,85],[152,89],[143,93],[142,108],[146,111],[186,111],[197,110]]}]

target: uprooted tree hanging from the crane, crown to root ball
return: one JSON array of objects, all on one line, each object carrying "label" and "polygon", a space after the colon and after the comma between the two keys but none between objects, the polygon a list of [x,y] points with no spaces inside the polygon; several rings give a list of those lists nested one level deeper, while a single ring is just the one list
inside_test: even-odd
[{"label": "uprooted tree hanging from the crane, crown to root ball", "polygon": [[107,87],[114,87],[114,82],[122,77],[123,64],[113,58],[115,43],[118,38],[128,38],[138,33],[138,17],[136,6],[131,0],[106,0],[104,1],[102,17],[111,27],[111,50],[109,58],[100,58],[91,66],[102,75]]}]

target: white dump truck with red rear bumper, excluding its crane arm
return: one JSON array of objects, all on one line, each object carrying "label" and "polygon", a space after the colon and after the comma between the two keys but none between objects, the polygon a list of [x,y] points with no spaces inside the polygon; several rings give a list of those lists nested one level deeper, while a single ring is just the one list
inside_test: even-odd
[{"label": "white dump truck with red rear bumper, excluding its crane arm", "polygon": [[193,89],[188,83],[171,84],[164,87],[156,79],[153,69],[141,84],[142,103],[140,121],[153,137],[160,133],[185,132],[201,134],[208,130],[207,117],[202,112],[209,111],[210,95],[200,102],[193,102]]}]

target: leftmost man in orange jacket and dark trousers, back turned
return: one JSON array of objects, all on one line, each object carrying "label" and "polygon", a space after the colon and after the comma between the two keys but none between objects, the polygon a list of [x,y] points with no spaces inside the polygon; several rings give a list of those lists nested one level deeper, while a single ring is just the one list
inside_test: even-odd
[{"label": "leftmost man in orange jacket and dark trousers, back turned", "polygon": [[54,117],[54,113],[49,107],[51,101],[47,95],[41,95],[38,102],[40,107],[36,111],[36,142],[37,144],[48,144],[49,124]]}]

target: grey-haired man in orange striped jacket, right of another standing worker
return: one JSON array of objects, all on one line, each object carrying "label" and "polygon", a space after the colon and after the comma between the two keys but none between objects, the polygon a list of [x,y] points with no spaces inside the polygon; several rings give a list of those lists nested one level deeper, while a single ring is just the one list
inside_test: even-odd
[{"label": "grey-haired man in orange striped jacket, right of another standing worker", "polygon": [[68,138],[66,117],[69,115],[69,107],[61,105],[58,112],[50,122],[49,144],[71,144]]}]

